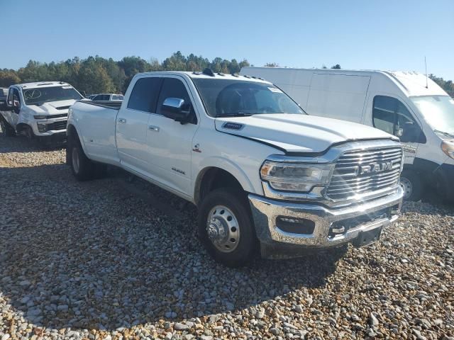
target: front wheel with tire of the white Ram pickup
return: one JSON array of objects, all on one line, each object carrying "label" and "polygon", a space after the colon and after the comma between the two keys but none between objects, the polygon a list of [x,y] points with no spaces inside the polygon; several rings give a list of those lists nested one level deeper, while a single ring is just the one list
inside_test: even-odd
[{"label": "front wheel with tire of the white Ram pickup", "polygon": [[199,206],[199,237],[214,259],[229,267],[253,258],[257,239],[248,201],[243,193],[220,188]]}]

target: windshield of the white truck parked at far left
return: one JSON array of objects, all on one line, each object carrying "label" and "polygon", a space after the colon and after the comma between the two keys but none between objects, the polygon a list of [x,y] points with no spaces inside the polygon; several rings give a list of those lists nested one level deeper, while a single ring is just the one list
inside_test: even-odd
[{"label": "windshield of the white truck parked at far left", "polygon": [[52,86],[24,90],[23,98],[27,105],[34,105],[48,103],[49,101],[79,100],[82,99],[82,96],[72,86]]}]

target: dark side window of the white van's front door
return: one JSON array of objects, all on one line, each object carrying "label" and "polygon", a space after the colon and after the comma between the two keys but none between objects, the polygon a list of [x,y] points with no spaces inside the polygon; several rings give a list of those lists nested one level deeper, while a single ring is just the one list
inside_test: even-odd
[{"label": "dark side window of the white van's front door", "polygon": [[372,119],[375,128],[396,135],[401,142],[425,142],[419,124],[396,98],[375,96]]}]

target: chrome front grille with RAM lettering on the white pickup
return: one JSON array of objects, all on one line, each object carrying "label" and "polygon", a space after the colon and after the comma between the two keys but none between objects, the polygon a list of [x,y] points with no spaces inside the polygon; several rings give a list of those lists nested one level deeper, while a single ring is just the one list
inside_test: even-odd
[{"label": "chrome front grille with RAM lettering on the white pickup", "polygon": [[401,166],[401,147],[344,152],[336,162],[326,195],[333,200],[344,200],[392,188],[399,183]]}]

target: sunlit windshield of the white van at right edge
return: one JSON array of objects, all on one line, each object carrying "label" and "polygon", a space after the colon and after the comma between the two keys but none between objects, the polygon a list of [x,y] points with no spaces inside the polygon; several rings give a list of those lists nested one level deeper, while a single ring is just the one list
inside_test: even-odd
[{"label": "sunlit windshield of the white van at right edge", "polygon": [[410,97],[431,128],[442,135],[454,135],[454,99],[450,96]]}]

